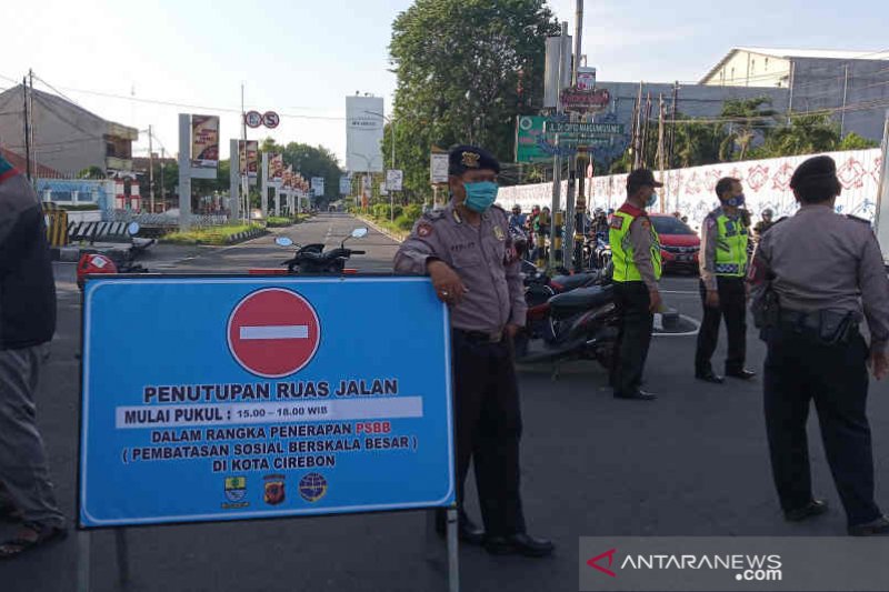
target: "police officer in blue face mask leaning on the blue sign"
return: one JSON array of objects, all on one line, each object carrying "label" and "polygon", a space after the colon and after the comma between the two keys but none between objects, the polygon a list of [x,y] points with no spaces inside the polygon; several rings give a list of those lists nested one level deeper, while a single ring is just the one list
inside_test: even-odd
[{"label": "police officer in blue face mask leaning on the blue sign", "polygon": [[[507,212],[495,205],[500,164],[458,146],[449,157],[451,202],[426,213],[396,253],[399,273],[428,274],[450,308],[457,429],[458,532],[493,554],[543,556],[551,542],[529,536],[519,492],[521,413],[512,338],[527,307]],[[463,482],[476,469],[485,531],[463,511]],[[439,532],[443,514],[439,513]]]}]

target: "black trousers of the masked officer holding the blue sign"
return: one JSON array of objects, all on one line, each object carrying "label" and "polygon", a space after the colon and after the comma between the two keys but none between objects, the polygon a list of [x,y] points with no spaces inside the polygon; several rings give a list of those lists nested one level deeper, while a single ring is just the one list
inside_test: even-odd
[{"label": "black trousers of the masked officer holding the blue sign", "polygon": [[457,433],[457,500],[462,509],[469,463],[485,530],[490,536],[523,533],[519,491],[521,410],[511,340],[499,343],[452,332]]}]

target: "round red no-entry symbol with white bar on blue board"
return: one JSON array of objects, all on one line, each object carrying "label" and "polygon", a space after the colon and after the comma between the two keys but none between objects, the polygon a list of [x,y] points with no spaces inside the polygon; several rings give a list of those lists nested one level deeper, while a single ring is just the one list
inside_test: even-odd
[{"label": "round red no-entry symbol with white bar on blue board", "polygon": [[241,300],[228,324],[229,350],[244,370],[276,379],[298,372],[321,338],[318,314],[290,290],[267,288]]}]

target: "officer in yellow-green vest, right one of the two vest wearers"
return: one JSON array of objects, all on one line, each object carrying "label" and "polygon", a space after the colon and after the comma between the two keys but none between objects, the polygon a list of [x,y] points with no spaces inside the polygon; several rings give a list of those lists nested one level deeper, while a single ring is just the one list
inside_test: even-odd
[{"label": "officer in yellow-green vest, right one of the two vest wearers", "polygon": [[707,214],[701,225],[700,291],[703,320],[695,353],[695,377],[721,384],[710,358],[719,340],[719,322],[726,319],[729,339],[726,374],[750,380],[756,372],[745,369],[747,352],[747,261],[750,240],[743,212],[743,188],[738,179],[723,177],[716,184],[721,205]]}]

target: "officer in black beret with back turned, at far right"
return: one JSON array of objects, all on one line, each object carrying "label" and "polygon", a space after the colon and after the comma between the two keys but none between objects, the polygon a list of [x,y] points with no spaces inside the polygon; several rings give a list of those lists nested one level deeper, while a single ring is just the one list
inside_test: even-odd
[{"label": "officer in black beret with back turned, at far right", "polygon": [[[851,535],[889,533],[873,495],[873,456],[865,414],[868,365],[889,371],[889,280],[867,220],[836,213],[837,168],[815,157],[790,180],[799,211],[762,239],[750,268],[752,310],[768,345],[766,427],[785,518],[827,511],[812,495],[806,422],[815,403],[827,460]],[[859,331],[867,320],[870,343]]]}]

